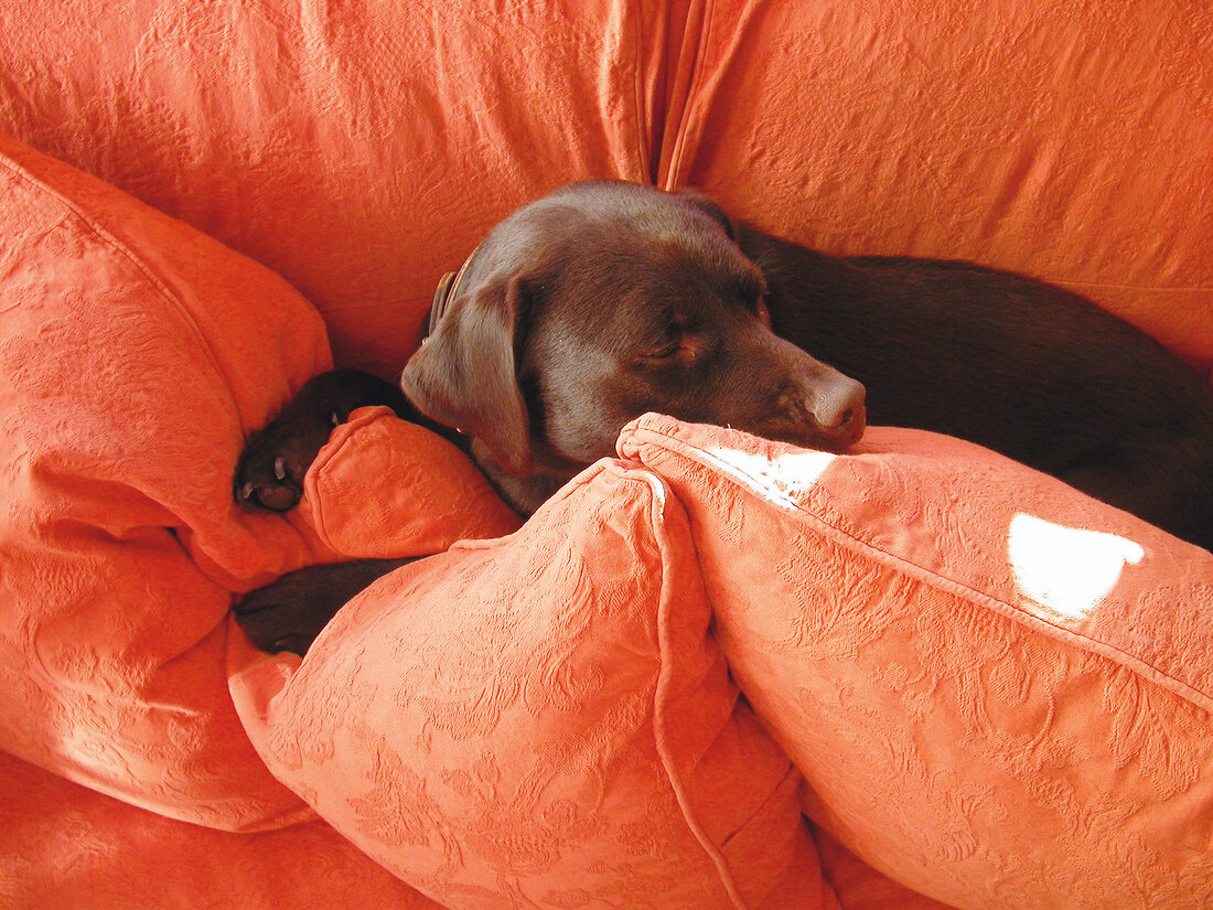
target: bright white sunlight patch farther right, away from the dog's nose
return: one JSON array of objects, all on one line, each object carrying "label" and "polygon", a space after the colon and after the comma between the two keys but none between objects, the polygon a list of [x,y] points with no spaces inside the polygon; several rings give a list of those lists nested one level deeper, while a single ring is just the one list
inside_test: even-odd
[{"label": "bright white sunlight patch farther right, away from the dog's nose", "polygon": [[1081,619],[1145,551],[1116,534],[1066,528],[1020,512],[1010,522],[1007,554],[1020,591],[1054,613]]}]

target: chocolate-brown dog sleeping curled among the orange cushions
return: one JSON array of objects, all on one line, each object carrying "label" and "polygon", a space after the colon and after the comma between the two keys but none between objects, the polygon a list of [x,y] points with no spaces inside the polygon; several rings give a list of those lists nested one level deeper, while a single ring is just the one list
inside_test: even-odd
[{"label": "chocolate-brown dog sleeping curled among the orange cushions", "polygon": [[[329,408],[321,377],[291,419],[393,404],[342,381],[340,408],[301,419],[308,396]],[[520,209],[473,254],[402,386],[471,437],[523,513],[648,410],[836,450],[870,419],[970,439],[1213,547],[1213,393],[1151,339],[1020,275],[814,252],[695,192],[588,181]],[[312,426],[284,448],[302,433],[283,422],[241,459],[250,505],[294,505],[323,443]]]}]

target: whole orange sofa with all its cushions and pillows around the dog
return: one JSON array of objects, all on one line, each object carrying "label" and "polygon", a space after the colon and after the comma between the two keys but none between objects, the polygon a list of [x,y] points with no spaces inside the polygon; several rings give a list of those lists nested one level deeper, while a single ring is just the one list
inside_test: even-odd
[{"label": "whole orange sofa with all its cushions and pillows around the dog", "polygon": [[[1213,375],[1213,52],[1146,0],[0,0],[0,903],[1213,904],[1213,556],[992,453],[660,415],[230,478],[570,180],[1078,290]],[[234,598],[427,556],[306,660]]]}]

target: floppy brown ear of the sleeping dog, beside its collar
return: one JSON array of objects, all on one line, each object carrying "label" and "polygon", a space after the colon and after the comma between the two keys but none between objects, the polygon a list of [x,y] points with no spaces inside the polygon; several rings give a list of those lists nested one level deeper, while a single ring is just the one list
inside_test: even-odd
[{"label": "floppy brown ear of the sleeping dog, beside its collar", "polygon": [[461,294],[400,376],[422,414],[483,442],[514,477],[531,471],[530,421],[514,362],[524,297],[517,275],[490,278]]}]

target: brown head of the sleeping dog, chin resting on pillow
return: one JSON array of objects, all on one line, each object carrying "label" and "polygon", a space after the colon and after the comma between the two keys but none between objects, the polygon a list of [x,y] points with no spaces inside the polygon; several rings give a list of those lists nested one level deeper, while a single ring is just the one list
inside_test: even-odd
[{"label": "brown head of the sleeping dog, chin resting on pillow", "polygon": [[864,387],[771,332],[763,274],[702,194],[570,184],[452,284],[402,386],[514,477],[609,456],[645,411],[835,450],[864,432]]}]

